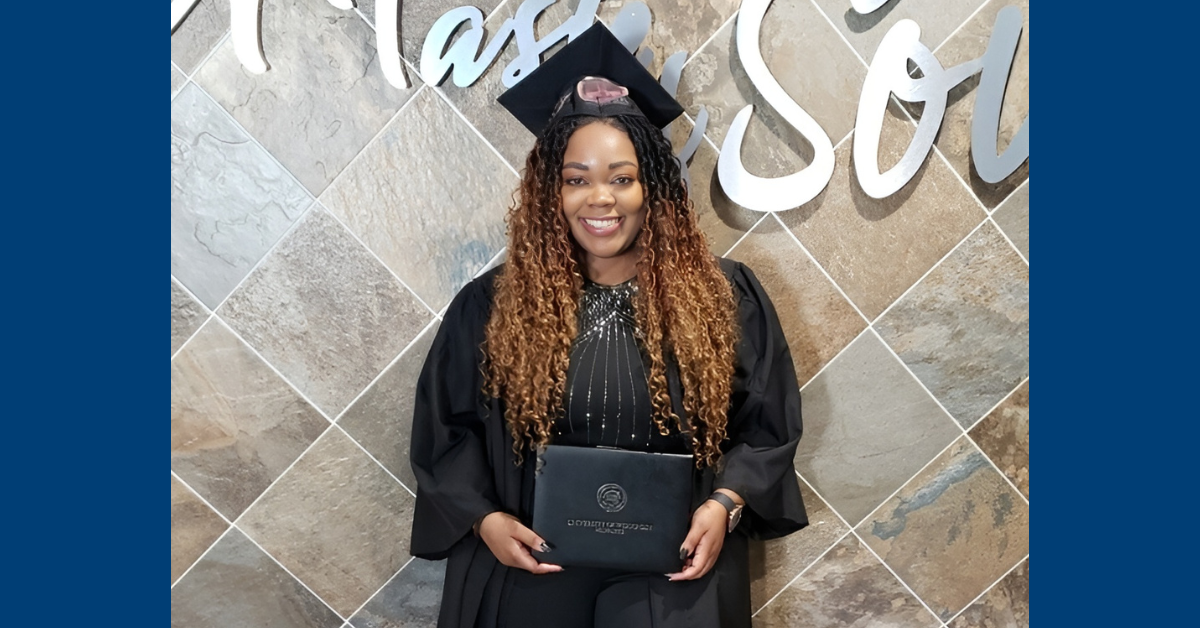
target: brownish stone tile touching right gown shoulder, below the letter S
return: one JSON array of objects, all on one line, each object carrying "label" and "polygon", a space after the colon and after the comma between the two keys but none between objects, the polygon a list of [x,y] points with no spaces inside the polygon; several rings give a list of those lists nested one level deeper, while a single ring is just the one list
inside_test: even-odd
[{"label": "brownish stone tile touching right gown shoulder, below the letter S", "polygon": [[774,219],[760,223],[728,257],[749,265],[770,295],[802,387],[866,328]]}]

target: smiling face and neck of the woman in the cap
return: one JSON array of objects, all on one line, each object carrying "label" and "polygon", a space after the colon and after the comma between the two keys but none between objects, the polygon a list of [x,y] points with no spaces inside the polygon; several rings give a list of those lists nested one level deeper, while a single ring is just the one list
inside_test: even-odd
[{"label": "smiling face and neck of the woman in the cap", "polygon": [[646,196],[637,179],[637,151],[624,131],[596,121],[568,139],[563,215],[593,281],[619,283],[636,274]]}]

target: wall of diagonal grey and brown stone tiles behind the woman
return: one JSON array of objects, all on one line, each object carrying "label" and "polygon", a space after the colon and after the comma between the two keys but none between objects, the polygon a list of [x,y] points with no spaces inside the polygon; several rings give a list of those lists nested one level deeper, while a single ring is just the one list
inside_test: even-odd
[{"label": "wall of diagonal grey and brown stone tiles behind the woman", "polygon": [[[408,1],[402,49],[470,0]],[[977,78],[935,150],[872,199],[851,160],[875,47],[904,18],[943,66],[979,56],[996,13],[1025,30],[1000,125],[1028,113],[1027,0],[776,0],[760,42],[835,145],[797,209],[737,207],[715,181],[733,114],[756,108],[748,168],[811,149],[764,103],[734,48],[734,0],[648,0],[655,65],[689,53],[679,100],[708,142],[691,165],[713,251],[750,264],[780,312],[805,432],[812,525],[752,554],[755,626],[1028,624],[1028,165],[983,183],[970,160]],[[263,2],[271,64],[251,74],[228,0],[172,35],[172,624],[433,626],[443,563],[413,560],[413,387],[461,286],[504,253],[532,136],[493,101],[505,52],[472,88],[388,84],[372,0]],[[490,32],[517,0],[475,0]],[[574,11],[558,2],[546,34]],[[600,5],[611,22],[622,2]],[[893,103],[880,155],[919,109]]]}]

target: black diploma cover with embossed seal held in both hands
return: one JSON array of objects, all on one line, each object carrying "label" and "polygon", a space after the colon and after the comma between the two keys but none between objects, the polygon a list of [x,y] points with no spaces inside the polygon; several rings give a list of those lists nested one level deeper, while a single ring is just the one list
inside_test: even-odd
[{"label": "black diploma cover with embossed seal held in both hands", "polygon": [[541,562],[676,573],[691,521],[692,457],[550,445],[538,454],[533,530]]}]

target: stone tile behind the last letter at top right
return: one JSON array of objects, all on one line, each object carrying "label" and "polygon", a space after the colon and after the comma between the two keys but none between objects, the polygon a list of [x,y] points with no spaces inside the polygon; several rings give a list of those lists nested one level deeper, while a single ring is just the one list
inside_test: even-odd
[{"label": "stone tile behind the last letter at top right", "polygon": [[[1003,151],[1021,128],[1021,122],[1030,114],[1030,2],[1028,0],[1006,0],[989,2],[954,34],[940,50],[937,60],[942,66],[952,67],[983,56],[988,49],[996,14],[1006,6],[1019,6],[1025,13],[1025,29],[1016,44],[1016,54],[1008,73],[1008,86],[1004,89],[1004,101],[1000,108],[1000,130],[996,134],[996,150]],[[971,119],[976,109],[976,92],[979,86],[979,74],[964,80],[950,90],[946,107],[946,116],[937,134],[937,148],[946,155],[954,171],[967,181],[979,202],[988,209],[994,209],[1008,197],[1022,181],[1030,178],[1030,162],[1025,161],[1003,181],[989,184],[976,173],[971,161]],[[1007,231],[1007,229],[1006,229]],[[1028,256],[1026,256],[1028,257]]]}]

